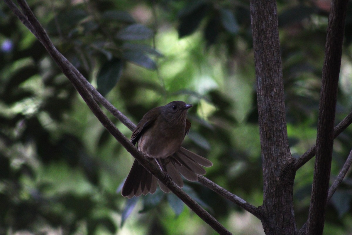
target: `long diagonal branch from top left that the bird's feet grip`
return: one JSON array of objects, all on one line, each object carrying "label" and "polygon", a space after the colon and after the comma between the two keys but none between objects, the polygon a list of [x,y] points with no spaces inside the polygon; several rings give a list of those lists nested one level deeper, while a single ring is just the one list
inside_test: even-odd
[{"label": "long diagonal branch from top left that the bird's feet grip", "polygon": [[[15,5],[11,0],[5,0],[7,5],[13,9]],[[19,13],[17,9],[13,11],[18,18],[22,21],[28,20],[30,24],[31,31],[34,29],[34,35],[38,40],[44,45],[45,49],[49,52],[53,60],[58,64],[62,72],[67,76],[70,82],[77,89],[78,93],[82,96],[83,100],[87,103],[89,108],[92,110],[94,115],[99,119],[102,125],[118,140],[127,151],[129,151],[132,156],[134,156],[142,165],[147,168],[153,175],[161,180],[165,185],[167,185],[172,192],[176,194],[190,209],[192,209],[200,218],[202,218],[206,223],[208,223],[215,231],[219,234],[231,234],[226,228],[224,228],[214,217],[212,217],[206,210],[204,210],[199,204],[197,204],[191,197],[189,197],[185,192],[181,190],[171,179],[162,172],[157,167],[153,166],[152,163],[147,160],[143,153],[141,153],[122,133],[115,127],[115,125],[108,119],[108,117],[102,112],[99,105],[91,96],[87,86],[87,82],[81,73],[54,47],[50,41],[48,35],[46,34],[43,27],[40,25],[39,21],[34,16],[33,12],[30,10],[27,2],[25,0],[18,0],[19,6],[22,8],[24,14]],[[15,7],[17,8],[17,7]],[[23,19],[23,15],[25,18]],[[31,26],[30,26],[31,25]],[[86,80],[87,81],[87,80]],[[97,96],[99,98],[99,95]]]}]

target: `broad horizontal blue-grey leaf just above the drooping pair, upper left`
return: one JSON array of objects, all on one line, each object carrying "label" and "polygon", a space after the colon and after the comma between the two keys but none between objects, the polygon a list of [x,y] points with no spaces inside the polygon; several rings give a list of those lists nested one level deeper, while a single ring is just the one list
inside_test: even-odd
[{"label": "broad horizontal blue-grey leaf just above the drooping pair, upper left", "polygon": [[120,40],[142,40],[153,36],[153,31],[142,24],[133,24],[121,29],[116,38]]}]

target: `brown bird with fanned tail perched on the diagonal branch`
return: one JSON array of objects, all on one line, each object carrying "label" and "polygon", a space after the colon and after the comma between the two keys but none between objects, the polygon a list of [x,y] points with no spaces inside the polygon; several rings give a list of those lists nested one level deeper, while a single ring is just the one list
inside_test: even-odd
[{"label": "brown bird with fanned tail perched on the diagonal branch", "polygon": [[[172,101],[165,106],[148,111],[134,129],[131,142],[138,142],[138,149],[150,157],[156,166],[167,172],[179,186],[183,186],[181,175],[189,181],[197,181],[198,175],[206,173],[202,166],[213,165],[208,159],[181,147],[188,134],[191,123],[186,118],[187,110],[192,107],[183,101]],[[162,191],[169,188],[134,160],[121,194],[132,198],[142,193],[155,193],[157,183]]]}]

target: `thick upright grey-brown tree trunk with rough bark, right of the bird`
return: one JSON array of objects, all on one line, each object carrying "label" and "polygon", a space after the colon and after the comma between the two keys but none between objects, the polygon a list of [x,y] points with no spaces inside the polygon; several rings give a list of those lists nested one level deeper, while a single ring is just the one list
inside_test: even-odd
[{"label": "thick upright grey-brown tree trunk with rough bark, right of the bird", "polygon": [[296,234],[294,159],[288,145],[276,2],[251,1],[259,134],[262,149],[265,234]]}]

